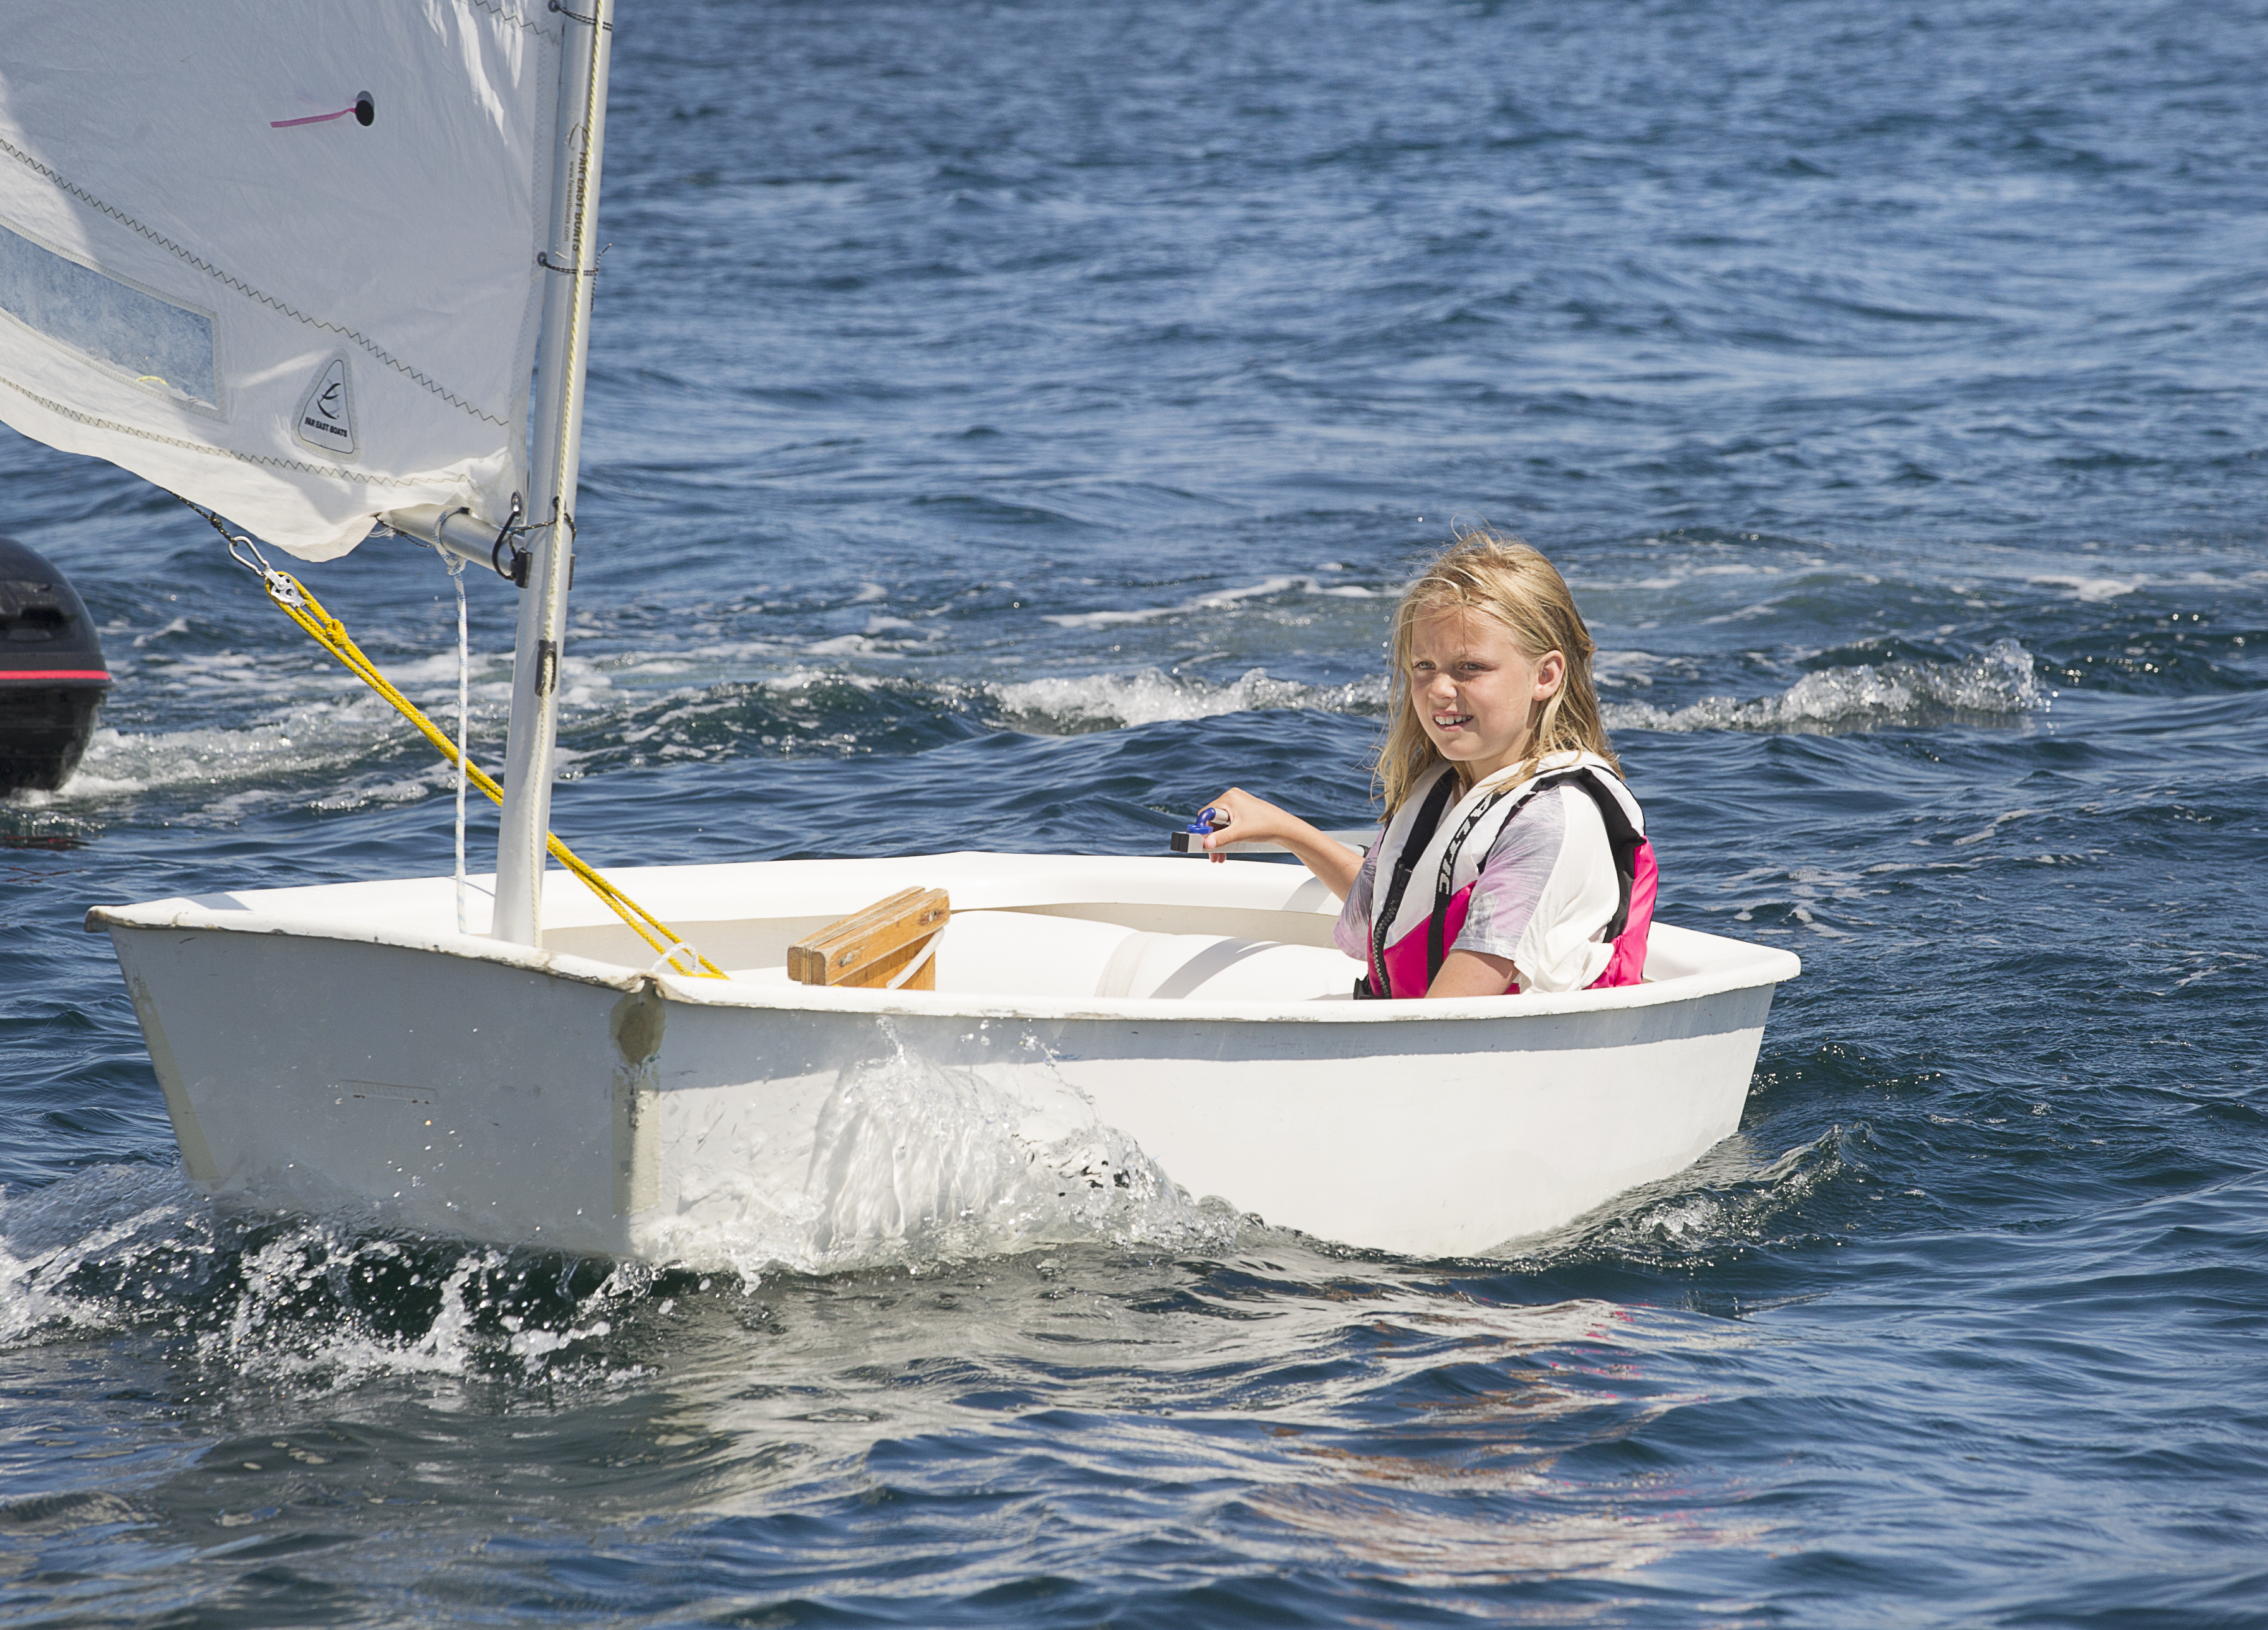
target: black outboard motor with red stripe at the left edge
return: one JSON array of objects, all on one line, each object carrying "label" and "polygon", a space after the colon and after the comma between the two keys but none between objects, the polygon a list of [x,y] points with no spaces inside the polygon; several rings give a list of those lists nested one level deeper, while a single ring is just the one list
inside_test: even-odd
[{"label": "black outboard motor with red stripe at the left edge", "polygon": [[0,537],[0,793],[70,780],[109,687],[95,619],[64,574]]}]

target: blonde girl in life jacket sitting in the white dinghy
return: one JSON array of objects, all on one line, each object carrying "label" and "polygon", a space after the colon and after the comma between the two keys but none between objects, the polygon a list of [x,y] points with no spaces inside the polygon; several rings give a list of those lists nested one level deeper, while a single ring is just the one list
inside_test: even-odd
[{"label": "blonde girl in life jacket sitting in the white dinghy", "polygon": [[1379,843],[1352,850],[1232,787],[1204,848],[1277,839],[1306,861],[1345,900],[1356,995],[1637,984],[1653,848],[1599,723],[1592,651],[1549,560],[1465,537],[1395,610]]}]

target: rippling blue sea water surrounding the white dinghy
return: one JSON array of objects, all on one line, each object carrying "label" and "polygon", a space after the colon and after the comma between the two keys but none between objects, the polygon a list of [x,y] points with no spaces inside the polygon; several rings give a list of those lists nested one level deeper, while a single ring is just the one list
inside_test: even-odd
[{"label": "rippling blue sea water surrounding the white dinghy", "polygon": [[[1359,825],[1397,583],[1520,530],[1665,916],[1805,973],[1735,1138],[1506,1258],[213,1217],[82,914],[447,871],[449,782],[172,499],[0,440],[118,671],[0,803],[0,1621],[2268,1625],[2263,25],[624,11],[558,830]],[[431,555],[306,576],[454,701]]]}]

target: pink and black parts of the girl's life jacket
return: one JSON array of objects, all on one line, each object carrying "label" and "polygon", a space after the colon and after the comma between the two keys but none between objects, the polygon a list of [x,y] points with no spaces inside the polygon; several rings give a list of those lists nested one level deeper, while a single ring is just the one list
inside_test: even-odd
[{"label": "pink and black parts of the girl's life jacket", "polygon": [[[1647,970],[1647,932],[1653,927],[1653,895],[1658,873],[1653,866],[1653,843],[1647,841],[1622,800],[1599,780],[1599,771],[1572,769],[1558,775],[1540,775],[1520,789],[1520,803],[1513,812],[1504,816],[1497,825],[1501,832],[1520,814],[1520,805],[1526,805],[1542,791],[1563,784],[1576,784],[1590,800],[1599,807],[1599,818],[1606,823],[1606,843],[1615,855],[1615,882],[1617,882],[1617,905],[1615,916],[1608,920],[1603,939],[1615,945],[1606,961],[1606,970],[1590,982],[1588,988],[1603,991],[1617,984],[1637,984]],[[1370,934],[1370,977],[1356,984],[1356,995],[1379,995],[1381,991],[1395,997],[1417,997],[1433,988],[1436,975],[1440,975],[1442,957],[1447,948],[1456,943],[1456,936],[1465,927],[1465,916],[1472,911],[1472,891],[1476,882],[1465,884],[1456,893],[1449,893],[1449,880],[1456,871],[1456,857],[1463,848],[1465,832],[1492,807],[1495,800],[1483,803],[1470,816],[1465,816],[1463,827],[1449,841],[1447,852],[1440,861],[1440,875],[1436,880],[1433,911],[1422,927],[1408,929],[1393,945],[1386,943],[1386,925],[1395,920],[1402,907],[1402,895],[1408,889],[1411,868],[1417,855],[1433,841],[1433,832],[1440,825],[1440,816],[1449,807],[1449,791],[1456,784],[1454,775],[1442,775],[1436,782],[1424,807],[1417,812],[1417,821],[1411,827],[1411,837],[1402,848],[1402,857],[1395,864],[1393,886],[1386,893],[1383,909],[1372,916]],[[1510,791],[1510,789],[1508,789]],[[1383,857],[1381,857],[1383,859]],[[1383,970],[1383,977],[1381,977]],[[1517,991],[1515,991],[1517,995]]]}]

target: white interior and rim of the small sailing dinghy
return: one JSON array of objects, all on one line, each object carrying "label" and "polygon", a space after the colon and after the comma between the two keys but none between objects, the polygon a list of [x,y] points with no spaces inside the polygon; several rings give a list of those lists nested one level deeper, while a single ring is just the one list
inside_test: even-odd
[{"label": "white interior and rim of the small sailing dinghy", "polygon": [[[1352,1002],[1359,963],[1331,943],[1338,900],[1302,866],[1107,855],[900,855],[744,861],[610,873],[730,979],[667,979],[678,1000],[798,1009],[1300,1011],[1313,1018],[1411,1018],[1399,1002]],[[544,886],[544,948],[485,936],[488,877],[456,927],[449,877],[313,889],[247,889],[98,909],[88,927],[204,927],[411,945],[510,966],[547,966],[624,986],[655,952],[567,873]],[[787,948],[900,889],[946,889],[953,923],[937,991],[816,991],[787,982]],[[1524,997],[1522,1011],[1588,1011],[1774,984],[1801,963],[1783,950],[1656,925],[1647,984]],[[1422,1004],[1440,1018],[1501,1011],[1501,997]],[[1452,1013],[1454,1009],[1454,1013]],[[1157,1011],[1157,1009],[1152,1009]]]}]

